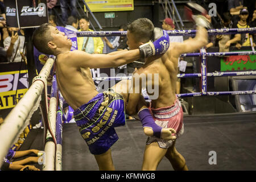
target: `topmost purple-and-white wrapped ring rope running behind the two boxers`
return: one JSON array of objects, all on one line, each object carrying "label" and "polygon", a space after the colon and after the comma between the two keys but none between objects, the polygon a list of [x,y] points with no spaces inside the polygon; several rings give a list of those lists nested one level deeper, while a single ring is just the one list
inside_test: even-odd
[{"label": "topmost purple-and-white wrapped ring rope running behind the two boxers", "polygon": [[[171,30],[167,31],[169,36],[191,36],[196,35],[196,30]],[[208,35],[221,35],[221,34],[243,34],[250,33],[255,34],[256,28],[220,28],[208,30]],[[91,37],[102,37],[102,36],[126,36],[127,31],[81,31],[77,32],[77,37],[91,36]]]}]

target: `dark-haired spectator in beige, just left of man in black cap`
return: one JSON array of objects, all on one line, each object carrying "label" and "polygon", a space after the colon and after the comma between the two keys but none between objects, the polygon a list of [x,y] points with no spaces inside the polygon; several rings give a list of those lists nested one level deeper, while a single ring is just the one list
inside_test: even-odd
[{"label": "dark-haired spectator in beige, just left of man in black cap", "polygon": [[[232,28],[232,19],[229,12],[225,12],[222,15],[221,20],[221,28]],[[217,35],[216,38],[218,40],[219,52],[229,52],[229,47],[225,48],[226,42],[230,40],[230,34]]]}]

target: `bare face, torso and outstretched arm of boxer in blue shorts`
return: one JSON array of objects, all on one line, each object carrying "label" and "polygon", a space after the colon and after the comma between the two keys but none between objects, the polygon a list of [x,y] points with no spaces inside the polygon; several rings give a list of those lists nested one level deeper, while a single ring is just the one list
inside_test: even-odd
[{"label": "bare face, torso and outstretched arm of boxer in blue shorts", "polygon": [[56,27],[50,27],[53,40],[48,46],[54,50],[57,85],[65,101],[74,109],[98,94],[90,68],[109,68],[131,63],[141,56],[139,49],[109,55],[90,55],[83,51],[70,51],[72,42]]}]

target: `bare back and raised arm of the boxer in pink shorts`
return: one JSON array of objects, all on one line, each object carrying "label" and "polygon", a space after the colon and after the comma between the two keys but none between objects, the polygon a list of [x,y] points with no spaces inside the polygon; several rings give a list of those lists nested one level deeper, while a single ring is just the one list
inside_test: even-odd
[{"label": "bare back and raised arm of the boxer in pink shorts", "polygon": [[[133,35],[127,33],[127,38],[130,38],[127,43],[129,43],[130,48],[134,49],[137,46],[133,45]],[[201,47],[205,46],[207,43],[207,30],[203,27],[197,27],[197,34],[195,38],[185,40],[182,43],[172,42],[168,51],[164,53],[159,59],[155,57],[150,57],[146,59],[146,63],[142,68],[139,68],[134,73],[138,75],[144,74],[159,74],[159,85],[155,85],[154,76],[152,75],[152,80],[147,79],[147,85],[159,86],[159,97],[156,100],[151,101],[153,108],[166,107],[174,104],[176,99],[176,80],[178,71],[178,60],[182,53],[193,52],[199,50]],[[155,60],[154,60],[155,59]],[[136,85],[135,85],[136,87]],[[148,93],[150,94],[150,93]],[[133,105],[138,101],[139,94],[130,94],[127,110],[131,111],[131,115],[136,113],[136,108]]]}]

